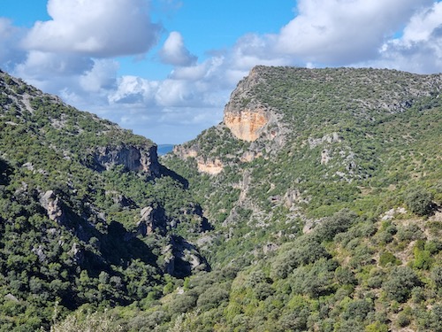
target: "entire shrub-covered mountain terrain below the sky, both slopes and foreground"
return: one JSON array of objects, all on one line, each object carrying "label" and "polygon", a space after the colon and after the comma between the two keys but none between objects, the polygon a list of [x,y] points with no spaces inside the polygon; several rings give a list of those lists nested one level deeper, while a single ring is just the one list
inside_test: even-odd
[{"label": "entire shrub-covered mountain terrain below the sky, both slopes and foreground", "polygon": [[442,331],[441,74],[256,66],[159,158],[1,77],[0,330]]}]

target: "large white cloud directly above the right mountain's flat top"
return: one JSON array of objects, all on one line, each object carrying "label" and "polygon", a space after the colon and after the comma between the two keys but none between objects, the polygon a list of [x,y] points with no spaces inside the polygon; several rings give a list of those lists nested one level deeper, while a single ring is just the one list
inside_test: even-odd
[{"label": "large white cloud directly above the right mountain's flat top", "polygon": [[416,2],[300,0],[297,9],[298,15],[280,30],[275,50],[330,66],[376,57],[385,38],[411,17]]}]

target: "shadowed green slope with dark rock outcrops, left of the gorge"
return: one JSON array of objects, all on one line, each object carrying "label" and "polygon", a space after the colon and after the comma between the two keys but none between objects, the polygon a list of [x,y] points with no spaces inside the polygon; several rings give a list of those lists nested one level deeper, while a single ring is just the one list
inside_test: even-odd
[{"label": "shadowed green slope with dark rock outcrops, left of the gorge", "polygon": [[0,321],[155,298],[164,274],[209,265],[208,227],[156,145],[0,72]]}]

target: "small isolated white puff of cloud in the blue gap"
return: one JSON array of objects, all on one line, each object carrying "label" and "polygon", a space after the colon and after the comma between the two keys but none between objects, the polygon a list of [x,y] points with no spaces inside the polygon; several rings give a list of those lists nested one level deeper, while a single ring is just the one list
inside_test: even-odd
[{"label": "small isolated white puff of cloud in the blue gap", "polygon": [[177,31],[169,34],[159,55],[164,64],[173,66],[191,66],[198,59],[187,50],[182,35]]}]

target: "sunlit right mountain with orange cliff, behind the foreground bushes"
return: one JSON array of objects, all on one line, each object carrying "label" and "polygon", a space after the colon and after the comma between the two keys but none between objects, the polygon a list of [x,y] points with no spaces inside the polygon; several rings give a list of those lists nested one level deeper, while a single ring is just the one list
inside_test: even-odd
[{"label": "sunlit right mountain with orange cliff, behind the foreground bushes", "polygon": [[377,217],[403,202],[403,190],[442,175],[441,81],[257,66],[232,92],[223,123],[164,163],[187,177],[218,235],[243,252],[344,207]]}]

